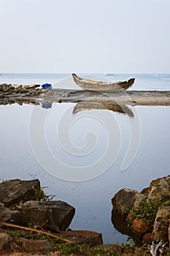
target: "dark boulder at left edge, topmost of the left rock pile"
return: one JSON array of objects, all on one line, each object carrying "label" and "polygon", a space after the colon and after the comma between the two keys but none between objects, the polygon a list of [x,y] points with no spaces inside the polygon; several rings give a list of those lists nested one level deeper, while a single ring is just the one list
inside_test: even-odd
[{"label": "dark boulder at left edge, topmost of the left rock pile", "polygon": [[38,179],[32,181],[15,179],[0,184],[0,202],[7,207],[18,204],[22,200],[25,202],[27,200],[40,200],[43,196]]}]

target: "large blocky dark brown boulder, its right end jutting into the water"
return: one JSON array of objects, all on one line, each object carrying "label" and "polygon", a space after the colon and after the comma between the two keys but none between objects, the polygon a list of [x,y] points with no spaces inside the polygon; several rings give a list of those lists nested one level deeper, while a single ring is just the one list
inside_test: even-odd
[{"label": "large blocky dark brown boulder, its right end jutting into the water", "polygon": [[75,208],[62,201],[28,201],[18,208],[22,225],[38,225],[47,230],[66,230],[72,222]]}]

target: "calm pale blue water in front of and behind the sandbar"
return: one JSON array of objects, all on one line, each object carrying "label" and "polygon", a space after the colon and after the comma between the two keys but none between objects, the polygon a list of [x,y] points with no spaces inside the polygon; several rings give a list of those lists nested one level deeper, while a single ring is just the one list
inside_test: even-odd
[{"label": "calm pale blue water in front of and behind the sandbar", "polygon": [[[170,75],[135,77],[134,90],[169,90]],[[3,74],[0,83],[53,83],[77,89],[69,74]],[[104,243],[122,243],[111,222],[111,200],[125,188],[142,190],[154,178],[169,175],[169,107],[130,108],[134,117],[109,110],[73,114],[72,103],[0,106],[1,181],[39,178],[47,195],[76,208],[72,229],[103,234]]]}]

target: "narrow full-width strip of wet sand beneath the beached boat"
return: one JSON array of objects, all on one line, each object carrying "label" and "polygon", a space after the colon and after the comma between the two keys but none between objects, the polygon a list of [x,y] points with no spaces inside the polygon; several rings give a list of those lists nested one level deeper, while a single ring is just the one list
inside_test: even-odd
[{"label": "narrow full-width strip of wet sand beneath the beached boat", "polygon": [[21,102],[36,102],[36,104],[46,102],[98,102],[118,105],[147,105],[147,106],[169,106],[170,91],[123,91],[117,93],[53,89],[35,97],[24,94],[8,95],[0,97],[3,100],[20,100]]}]

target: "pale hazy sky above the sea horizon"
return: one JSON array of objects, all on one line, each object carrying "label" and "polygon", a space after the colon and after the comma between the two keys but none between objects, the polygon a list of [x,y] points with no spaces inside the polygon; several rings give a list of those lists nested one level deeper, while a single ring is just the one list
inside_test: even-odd
[{"label": "pale hazy sky above the sea horizon", "polygon": [[170,0],[0,0],[0,72],[170,73]]}]

